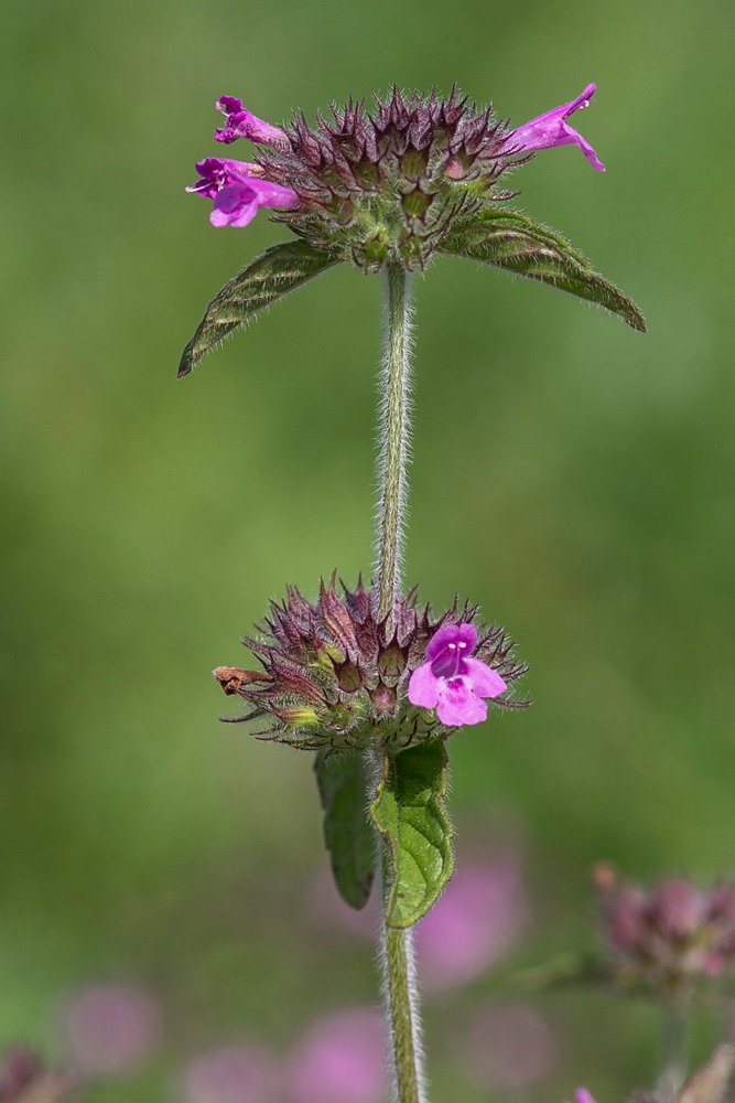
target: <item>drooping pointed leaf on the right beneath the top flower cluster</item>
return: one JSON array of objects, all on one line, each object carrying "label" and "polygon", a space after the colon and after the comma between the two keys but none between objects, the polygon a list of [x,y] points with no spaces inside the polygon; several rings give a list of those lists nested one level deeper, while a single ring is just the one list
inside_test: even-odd
[{"label": "drooping pointed leaf on the right beneath the top flower cluster", "polygon": [[618,314],[634,330],[646,332],[644,315],[633,299],[596,272],[565,237],[518,211],[485,211],[454,229],[440,251],[472,257],[570,291]]}]

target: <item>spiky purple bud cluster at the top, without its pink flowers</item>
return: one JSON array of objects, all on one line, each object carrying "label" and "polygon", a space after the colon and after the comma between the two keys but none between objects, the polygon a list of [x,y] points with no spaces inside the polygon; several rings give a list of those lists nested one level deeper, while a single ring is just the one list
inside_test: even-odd
[{"label": "spiky purple bud cluster at the top, without its pink flowers", "polygon": [[274,221],[317,249],[366,271],[390,260],[423,268],[458,217],[510,197],[495,183],[527,158],[491,108],[469,106],[456,89],[448,99],[404,98],[394,87],[376,103],[374,115],[352,100],[333,107],[334,118],[317,115],[314,129],[296,115],[285,140],[256,160],[300,200]]}]

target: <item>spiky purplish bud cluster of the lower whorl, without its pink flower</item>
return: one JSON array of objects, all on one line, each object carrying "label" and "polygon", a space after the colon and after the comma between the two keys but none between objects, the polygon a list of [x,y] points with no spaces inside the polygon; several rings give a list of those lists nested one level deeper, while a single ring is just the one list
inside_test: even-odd
[{"label": "spiky purplish bud cluster of the lower whorl, without its pink flower", "polygon": [[[379,618],[376,595],[361,581],[344,598],[322,582],[318,600],[307,601],[296,589],[287,599],[271,601],[261,638],[242,642],[262,670],[220,666],[214,672],[226,694],[237,694],[251,711],[236,720],[267,719],[271,727],[260,739],[303,750],[374,746],[396,749],[454,730],[433,708],[420,708],[407,697],[410,676],[424,661],[426,644],[442,628],[469,624],[477,607],[453,607],[433,619],[429,606],[419,608],[415,591],[400,598],[392,615]],[[526,666],[512,655],[512,642],[502,629],[480,627],[475,657],[506,683]],[[497,704],[519,707],[506,695]]]}]

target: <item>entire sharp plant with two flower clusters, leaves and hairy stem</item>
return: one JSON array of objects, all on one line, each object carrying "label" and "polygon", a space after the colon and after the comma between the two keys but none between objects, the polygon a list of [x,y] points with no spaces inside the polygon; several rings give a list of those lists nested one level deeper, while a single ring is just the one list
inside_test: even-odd
[{"label": "entire sharp plant with two flower clusters, leaves and hairy stem", "polygon": [[[225,693],[249,706],[258,738],[315,752],[324,836],[337,888],[367,903],[376,874],[382,903],[381,962],[392,1090],[425,1101],[411,929],[436,902],[454,868],[444,807],[447,740],[486,719],[488,705],[520,707],[514,683],[526,667],[505,632],[456,600],[435,614],[401,578],[411,440],[412,272],[439,255],[471,257],[527,276],[618,314],[644,330],[640,311],[570,242],[507,206],[508,172],[538,150],[579,146],[604,165],[569,119],[594,85],[512,128],[458,90],[350,100],[290,126],[257,118],[239,99],[217,104],[217,140],[256,143],[252,162],[206,158],[190,189],[212,200],[215,226],[242,227],[267,207],[295,239],[272,246],[215,297],[179,375],[225,336],[338,264],[382,274],[385,355],[380,376],[379,499],[375,582],[337,592],[336,572],[311,601],[292,588],[271,602],[246,645],[256,670],[223,666]],[[463,442],[464,448],[468,445]],[[343,1093],[344,1095],[344,1093]]]}]

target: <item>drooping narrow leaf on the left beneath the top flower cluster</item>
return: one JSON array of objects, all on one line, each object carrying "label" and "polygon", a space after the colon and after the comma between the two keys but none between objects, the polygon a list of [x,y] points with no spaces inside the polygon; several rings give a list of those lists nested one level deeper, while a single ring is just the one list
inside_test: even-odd
[{"label": "drooping narrow leaf on the left beneath the top flower cluster", "polygon": [[219,344],[228,333],[245,325],[256,314],[282,299],[289,291],[326,271],[337,261],[306,242],[283,242],[251,260],[241,272],[225,283],[209,306],[188,342],[179,365],[179,378]]}]

